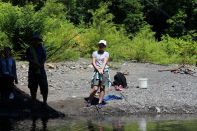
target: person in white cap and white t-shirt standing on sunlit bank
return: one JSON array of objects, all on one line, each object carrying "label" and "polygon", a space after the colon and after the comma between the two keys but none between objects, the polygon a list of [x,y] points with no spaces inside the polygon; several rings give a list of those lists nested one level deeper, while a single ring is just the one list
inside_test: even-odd
[{"label": "person in white cap and white t-shirt standing on sunlit bank", "polygon": [[92,91],[90,92],[87,106],[91,105],[94,95],[100,90],[98,107],[102,108],[105,87],[109,87],[109,66],[107,65],[109,53],[105,51],[106,46],[107,42],[105,40],[100,40],[98,42],[98,51],[94,51],[92,54],[94,76],[92,79]]}]

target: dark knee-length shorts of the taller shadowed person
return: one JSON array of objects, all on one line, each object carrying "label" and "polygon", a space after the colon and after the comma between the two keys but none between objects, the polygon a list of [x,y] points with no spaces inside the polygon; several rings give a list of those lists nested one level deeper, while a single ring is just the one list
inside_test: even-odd
[{"label": "dark knee-length shorts of the taller shadowed person", "polygon": [[37,93],[38,86],[40,87],[40,92],[42,95],[48,94],[48,82],[46,74],[40,75],[33,72],[29,72],[28,87],[31,91],[31,94]]}]

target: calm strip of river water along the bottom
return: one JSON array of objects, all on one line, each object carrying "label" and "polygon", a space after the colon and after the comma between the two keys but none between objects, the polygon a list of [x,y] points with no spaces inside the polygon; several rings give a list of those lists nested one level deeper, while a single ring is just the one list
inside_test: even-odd
[{"label": "calm strip of river water along the bottom", "polygon": [[197,117],[0,119],[0,131],[197,131]]}]

